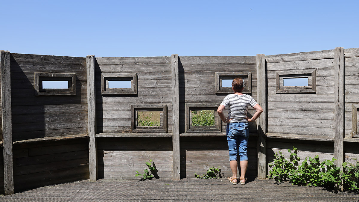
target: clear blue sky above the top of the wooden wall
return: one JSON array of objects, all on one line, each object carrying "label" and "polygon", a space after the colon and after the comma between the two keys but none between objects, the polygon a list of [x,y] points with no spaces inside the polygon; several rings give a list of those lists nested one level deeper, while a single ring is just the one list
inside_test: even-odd
[{"label": "clear blue sky above the top of the wooden wall", "polygon": [[359,1],[5,1],[0,49],[97,57],[359,47]]}]

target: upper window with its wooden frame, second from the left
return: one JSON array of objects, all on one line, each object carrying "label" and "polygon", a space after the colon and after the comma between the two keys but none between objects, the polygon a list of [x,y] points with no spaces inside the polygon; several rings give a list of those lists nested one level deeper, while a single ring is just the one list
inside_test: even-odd
[{"label": "upper window with its wooden frame, second from the left", "polygon": [[101,74],[102,95],[136,95],[137,74]]}]

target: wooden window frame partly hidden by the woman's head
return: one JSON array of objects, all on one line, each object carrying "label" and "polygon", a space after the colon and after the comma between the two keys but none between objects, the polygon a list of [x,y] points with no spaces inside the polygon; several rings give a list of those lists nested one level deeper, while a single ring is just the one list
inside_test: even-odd
[{"label": "wooden window frame partly hidden by the woman's head", "polygon": [[236,77],[246,76],[247,85],[243,88],[242,93],[252,93],[252,72],[216,72],[216,92],[215,93],[233,93],[232,87],[222,87],[222,78],[234,79]]}]

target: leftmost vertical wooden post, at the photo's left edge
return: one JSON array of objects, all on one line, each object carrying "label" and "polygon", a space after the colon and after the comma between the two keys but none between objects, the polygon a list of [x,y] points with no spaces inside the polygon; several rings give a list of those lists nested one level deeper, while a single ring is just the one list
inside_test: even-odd
[{"label": "leftmost vertical wooden post, at the photo's left edge", "polygon": [[10,52],[1,51],[1,107],[3,115],[5,195],[14,194],[13,134],[11,126]]}]

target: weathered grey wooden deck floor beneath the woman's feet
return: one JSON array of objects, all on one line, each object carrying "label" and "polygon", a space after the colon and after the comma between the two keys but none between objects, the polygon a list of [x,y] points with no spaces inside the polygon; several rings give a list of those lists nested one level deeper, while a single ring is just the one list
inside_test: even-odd
[{"label": "weathered grey wooden deck floor beneath the woman's feet", "polygon": [[227,179],[193,179],[179,181],[153,179],[88,180],[28,190],[0,201],[43,202],[140,202],[140,201],[359,201],[358,194],[333,193],[318,187],[298,187],[274,180],[249,179],[246,185],[232,185]]}]

